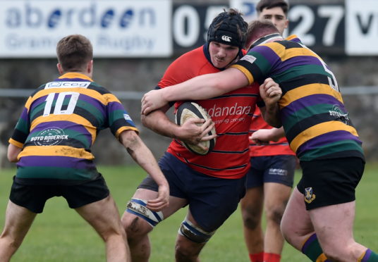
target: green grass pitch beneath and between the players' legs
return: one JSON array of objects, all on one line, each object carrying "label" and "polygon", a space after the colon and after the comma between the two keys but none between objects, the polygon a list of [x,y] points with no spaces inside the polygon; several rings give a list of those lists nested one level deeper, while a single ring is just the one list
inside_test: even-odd
[{"label": "green grass pitch beneath and between the players' legs", "polygon": [[[116,199],[120,213],[123,213],[126,202],[130,199],[135,187],[145,177],[144,171],[135,166],[106,167],[100,166]],[[4,213],[11,187],[14,169],[0,170],[0,227],[4,225]],[[368,164],[365,175],[357,189],[357,212],[355,218],[355,239],[367,247],[377,250],[378,247],[378,165]],[[300,177],[298,173],[296,180]],[[185,216],[185,209],[160,223],[150,238],[152,241],[152,262],[174,261],[174,242],[178,226]],[[210,239],[200,255],[204,262],[247,262],[242,233],[240,211],[236,211]],[[44,213],[37,216],[29,234],[20,249],[13,256],[13,262],[76,262],[105,261],[104,245],[97,233],[68,208],[63,198],[47,201]],[[303,254],[288,244],[282,254],[283,262],[309,261]]]}]

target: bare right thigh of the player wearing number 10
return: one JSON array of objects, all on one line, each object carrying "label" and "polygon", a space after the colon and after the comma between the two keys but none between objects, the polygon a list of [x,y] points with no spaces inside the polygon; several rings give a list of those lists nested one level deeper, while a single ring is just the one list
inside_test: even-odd
[{"label": "bare right thigh of the player wearing number 10", "polygon": [[105,199],[75,208],[75,211],[87,220],[102,237],[123,232],[116,203],[110,195]]}]

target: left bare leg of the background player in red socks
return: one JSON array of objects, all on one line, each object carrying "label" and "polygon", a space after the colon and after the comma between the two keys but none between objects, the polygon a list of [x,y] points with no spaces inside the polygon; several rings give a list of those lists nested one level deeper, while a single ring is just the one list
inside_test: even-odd
[{"label": "left bare leg of the background player in red socks", "polygon": [[261,225],[263,201],[262,187],[248,189],[240,201],[244,239],[249,254],[258,254],[264,251],[264,235]]}]

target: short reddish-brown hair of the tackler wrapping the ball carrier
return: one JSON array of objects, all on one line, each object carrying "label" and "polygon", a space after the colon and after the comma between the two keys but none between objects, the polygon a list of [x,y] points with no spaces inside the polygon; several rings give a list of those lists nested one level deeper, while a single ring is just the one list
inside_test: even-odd
[{"label": "short reddish-brown hair of the tackler wrapping the ball carrier", "polygon": [[247,44],[252,44],[261,37],[275,33],[279,33],[279,30],[271,20],[252,20],[248,25]]}]

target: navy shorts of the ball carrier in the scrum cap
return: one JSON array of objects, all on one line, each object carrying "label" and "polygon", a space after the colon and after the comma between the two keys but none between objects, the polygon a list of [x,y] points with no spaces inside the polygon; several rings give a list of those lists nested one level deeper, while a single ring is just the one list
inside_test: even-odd
[{"label": "navy shorts of the ball carrier in the scrum cap", "polygon": [[[245,176],[224,179],[199,173],[169,153],[159,159],[169,182],[171,196],[187,199],[190,213],[207,232],[217,230],[238,208],[245,195]],[[157,192],[157,184],[147,175],[138,188]]]}]

